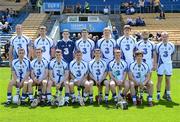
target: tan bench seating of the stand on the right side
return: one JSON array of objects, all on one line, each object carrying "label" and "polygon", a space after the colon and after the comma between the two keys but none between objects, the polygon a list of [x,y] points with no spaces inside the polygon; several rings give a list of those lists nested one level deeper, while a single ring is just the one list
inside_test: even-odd
[{"label": "tan bench seating of the stand on the right side", "polygon": [[143,29],[147,29],[153,35],[156,35],[157,32],[167,31],[169,33],[170,41],[176,45],[180,45],[180,13],[166,13],[165,20],[157,20],[157,14],[134,14],[134,15],[125,15],[121,14],[124,24],[126,23],[127,17],[135,19],[136,17],[141,16],[144,18],[146,26],[143,27],[132,27],[132,32],[139,32]]}]

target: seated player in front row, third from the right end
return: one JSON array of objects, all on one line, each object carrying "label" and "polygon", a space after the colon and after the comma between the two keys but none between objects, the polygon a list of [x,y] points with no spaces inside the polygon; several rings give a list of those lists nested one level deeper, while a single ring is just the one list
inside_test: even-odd
[{"label": "seated player in front row, third from the right end", "polygon": [[101,50],[94,50],[95,58],[89,62],[90,82],[94,82],[98,88],[99,97],[102,97],[102,86],[105,85],[105,103],[108,103],[109,81],[107,76],[107,64],[101,57]]}]

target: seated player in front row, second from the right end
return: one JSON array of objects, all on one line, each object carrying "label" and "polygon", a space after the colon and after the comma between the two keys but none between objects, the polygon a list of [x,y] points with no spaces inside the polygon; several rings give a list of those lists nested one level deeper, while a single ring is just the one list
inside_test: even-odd
[{"label": "seated player in front row, second from the right end", "polygon": [[[118,87],[118,98],[124,98],[129,91],[129,81],[127,78],[128,64],[121,59],[121,51],[114,51],[115,59],[109,63],[109,75],[111,78],[110,89],[112,90],[114,101],[117,102],[116,86]],[[123,92],[121,88],[124,87]]]}]

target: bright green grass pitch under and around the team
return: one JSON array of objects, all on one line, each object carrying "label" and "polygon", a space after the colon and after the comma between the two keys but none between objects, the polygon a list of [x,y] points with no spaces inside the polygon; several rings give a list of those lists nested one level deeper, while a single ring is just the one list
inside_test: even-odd
[{"label": "bright green grass pitch under and around the team", "polygon": [[[156,85],[156,74],[153,74],[153,82]],[[10,80],[10,69],[0,68],[0,103],[6,101],[7,84]],[[111,106],[68,106],[61,108],[37,107],[4,107],[0,104],[0,122],[179,122],[180,121],[180,69],[174,70],[171,83],[173,102],[155,100],[156,88],[154,87],[154,101],[152,108],[147,105],[142,107],[130,106],[128,110],[115,109]],[[96,88],[95,88],[96,90]],[[164,91],[164,83],[162,90]],[[145,97],[146,98],[146,97]]]}]

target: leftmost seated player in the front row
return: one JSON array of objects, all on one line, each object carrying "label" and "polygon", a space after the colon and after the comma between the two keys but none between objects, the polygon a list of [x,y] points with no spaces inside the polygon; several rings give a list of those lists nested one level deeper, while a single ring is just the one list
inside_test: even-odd
[{"label": "leftmost seated player in the front row", "polygon": [[7,102],[6,105],[11,103],[13,86],[17,88],[17,95],[20,94],[22,88],[22,103],[26,99],[27,85],[30,75],[30,61],[24,57],[25,50],[18,49],[18,58],[12,61],[12,80],[8,84]]}]

